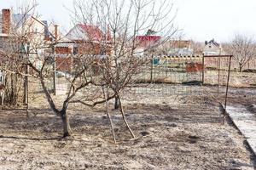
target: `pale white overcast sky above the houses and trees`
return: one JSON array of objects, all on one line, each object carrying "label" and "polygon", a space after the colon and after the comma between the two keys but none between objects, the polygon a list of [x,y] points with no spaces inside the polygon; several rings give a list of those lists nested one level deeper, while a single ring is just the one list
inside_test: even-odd
[{"label": "pale white overcast sky above the houses and trees", "polygon": [[[170,0],[171,1],[171,0]],[[22,0],[0,0],[0,8],[17,8]],[[70,29],[69,12],[73,0],[38,0],[42,20],[55,20]],[[177,26],[184,38],[228,41],[235,33],[256,37],[256,0],[173,0]]]}]

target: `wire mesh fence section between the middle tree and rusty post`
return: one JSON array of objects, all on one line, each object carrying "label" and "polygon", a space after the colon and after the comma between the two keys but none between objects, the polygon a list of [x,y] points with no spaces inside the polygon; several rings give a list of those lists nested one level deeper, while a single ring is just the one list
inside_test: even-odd
[{"label": "wire mesh fence section between the middle tree and rusty post", "polygon": [[132,93],[195,94],[202,83],[202,56],[154,56],[144,62]]}]

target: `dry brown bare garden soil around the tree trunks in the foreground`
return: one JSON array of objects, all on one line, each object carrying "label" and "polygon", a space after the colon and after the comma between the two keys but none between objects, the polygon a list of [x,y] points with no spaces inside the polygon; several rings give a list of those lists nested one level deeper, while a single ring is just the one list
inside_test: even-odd
[{"label": "dry brown bare garden soil around the tree trunks in the foreground", "polygon": [[[230,104],[232,99],[238,100],[231,96]],[[29,118],[24,110],[3,108],[0,169],[255,168],[245,139],[230,123],[222,125],[212,99],[141,95],[124,103],[137,138],[131,139],[119,112],[111,110],[118,144],[103,106],[71,105],[73,137],[67,139],[61,139],[61,119],[44,99],[33,99]]]}]

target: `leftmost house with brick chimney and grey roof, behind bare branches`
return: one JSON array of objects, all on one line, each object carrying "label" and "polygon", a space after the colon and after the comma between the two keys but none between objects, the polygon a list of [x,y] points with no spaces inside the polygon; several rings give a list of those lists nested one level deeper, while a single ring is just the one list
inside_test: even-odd
[{"label": "leftmost house with brick chimney and grey roof, behind bare branches", "polygon": [[[49,32],[47,21],[39,20],[31,14],[13,14],[11,9],[3,8],[0,20],[0,48],[5,48],[5,50],[12,47],[10,49],[12,52],[20,54],[24,52],[23,50],[26,49],[28,44],[32,46],[55,39]],[[42,61],[37,59],[36,54],[34,54],[35,51],[30,50],[30,52],[30,59],[40,68]],[[43,54],[44,48],[38,48],[37,53]]]}]

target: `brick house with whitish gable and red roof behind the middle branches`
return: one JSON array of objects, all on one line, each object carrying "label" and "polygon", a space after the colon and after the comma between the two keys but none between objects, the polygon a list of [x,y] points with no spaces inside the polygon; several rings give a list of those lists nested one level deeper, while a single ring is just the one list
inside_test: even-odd
[{"label": "brick house with whitish gable and red roof behind the middle branches", "polygon": [[99,26],[77,24],[55,46],[57,70],[72,71],[76,63],[69,54],[110,55],[111,41],[109,30],[104,32]]}]

